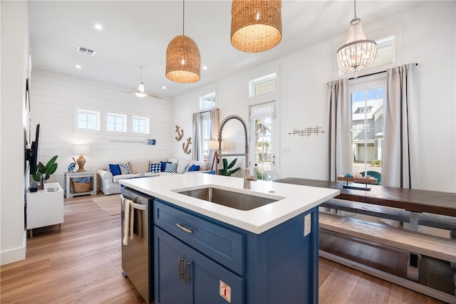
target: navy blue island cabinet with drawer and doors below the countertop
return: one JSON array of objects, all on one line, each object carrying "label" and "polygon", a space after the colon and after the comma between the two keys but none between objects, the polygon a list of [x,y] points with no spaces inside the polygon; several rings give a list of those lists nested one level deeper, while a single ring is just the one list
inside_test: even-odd
[{"label": "navy blue island cabinet with drawer and doors below the countertop", "polygon": [[156,304],[318,303],[318,207],[262,234],[161,199],[154,221]]}]

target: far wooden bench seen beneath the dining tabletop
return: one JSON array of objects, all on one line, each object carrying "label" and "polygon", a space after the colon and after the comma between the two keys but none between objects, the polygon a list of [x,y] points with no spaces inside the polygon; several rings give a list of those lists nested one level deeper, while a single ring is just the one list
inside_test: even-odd
[{"label": "far wooden bench seen beneath the dining tabletop", "polygon": [[[330,199],[328,201],[325,201],[320,206],[330,209],[353,212],[356,214],[365,214],[368,216],[375,216],[381,217],[383,219],[392,219],[395,221],[410,223],[410,211],[388,206],[379,206],[341,199]],[[418,224],[438,229],[456,231],[456,218],[453,216],[422,213],[418,214]]]}]

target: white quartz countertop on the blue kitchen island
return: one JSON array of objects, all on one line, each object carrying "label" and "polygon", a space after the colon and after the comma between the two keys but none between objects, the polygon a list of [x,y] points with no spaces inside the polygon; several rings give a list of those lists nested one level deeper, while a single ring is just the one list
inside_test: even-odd
[{"label": "white quartz countertop on the blue kitchen island", "polygon": [[[260,180],[252,182],[251,189],[243,189],[244,179],[242,178],[204,173],[122,179],[120,184],[254,234],[261,234],[340,194],[337,189]],[[279,200],[256,209],[242,211],[179,194],[176,191],[197,189],[202,186],[212,186]]]}]

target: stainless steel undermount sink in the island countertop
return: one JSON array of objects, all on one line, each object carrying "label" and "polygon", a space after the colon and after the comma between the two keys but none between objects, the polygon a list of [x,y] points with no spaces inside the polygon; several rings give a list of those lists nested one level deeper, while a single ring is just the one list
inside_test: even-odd
[{"label": "stainless steel undermount sink in the island countertop", "polygon": [[264,197],[216,187],[202,187],[184,191],[177,190],[176,192],[242,211],[252,210],[284,199],[283,196],[270,195],[270,197]]}]

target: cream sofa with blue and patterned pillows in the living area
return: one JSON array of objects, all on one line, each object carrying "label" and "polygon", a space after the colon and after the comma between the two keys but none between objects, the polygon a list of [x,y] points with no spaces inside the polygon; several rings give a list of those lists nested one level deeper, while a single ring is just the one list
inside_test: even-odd
[{"label": "cream sofa with blue and patterned pillows in the living area", "polygon": [[170,158],[165,160],[136,159],[125,162],[110,162],[97,170],[100,190],[105,195],[120,193],[120,179],[160,177],[170,174],[208,172],[208,162],[191,159]]}]

